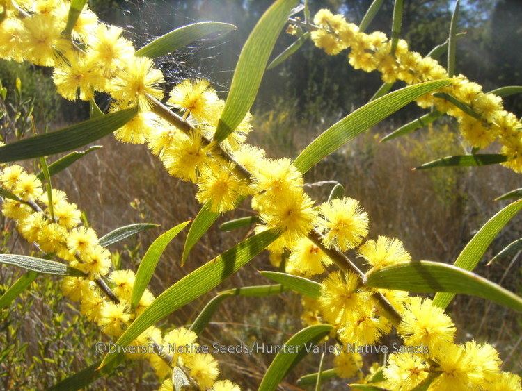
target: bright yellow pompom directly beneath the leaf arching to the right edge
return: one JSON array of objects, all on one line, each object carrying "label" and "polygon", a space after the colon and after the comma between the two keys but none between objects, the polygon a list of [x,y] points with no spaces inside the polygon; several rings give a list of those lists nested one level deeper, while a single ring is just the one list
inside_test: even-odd
[{"label": "bright yellow pompom directly beneath the leaf arching to the right edge", "polygon": [[405,344],[422,344],[434,353],[441,345],[452,342],[455,325],[442,308],[433,305],[431,299],[411,297],[397,331]]}]

